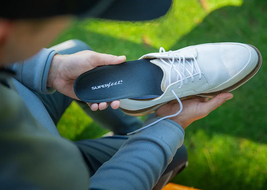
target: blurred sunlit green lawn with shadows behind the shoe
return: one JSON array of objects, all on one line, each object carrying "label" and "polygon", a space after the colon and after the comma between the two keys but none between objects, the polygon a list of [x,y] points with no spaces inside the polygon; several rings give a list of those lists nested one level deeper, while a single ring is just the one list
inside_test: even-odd
[{"label": "blurred sunlit green lawn with shadows behind the shoe", "polygon": [[[267,189],[267,1],[175,0],[169,13],[150,22],[76,21],[53,44],[79,39],[95,51],[127,60],[211,42],[255,45],[260,72],[234,98],[185,131],[189,166],[174,183],[200,189]],[[142,118],[144,119],[144,118]],[[72,103],[58,123],[61,135],[79,140],[108,132]]]}]

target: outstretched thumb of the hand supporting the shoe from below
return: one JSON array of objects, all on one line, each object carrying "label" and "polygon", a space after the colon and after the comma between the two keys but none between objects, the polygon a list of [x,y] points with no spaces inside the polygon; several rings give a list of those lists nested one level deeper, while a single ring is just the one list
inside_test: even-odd
[{"label": "outstretched thumb of the hand supporting the shoe from below", "polygon": [[233,98],[232,93],[222,93],[218,94],[214,98],[211,98],[209,101],[206,101],[203,103],[203,111],[207,113],[207,115],[212,112],[214,109],[221,106],[223,103],[225,103],[226,100],[230,100]]}]

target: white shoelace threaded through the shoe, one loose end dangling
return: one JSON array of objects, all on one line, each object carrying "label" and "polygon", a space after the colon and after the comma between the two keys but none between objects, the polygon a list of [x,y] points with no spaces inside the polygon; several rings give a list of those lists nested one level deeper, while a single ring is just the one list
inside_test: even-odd
[{"label": "white shoelace threaded through the shoe, one loose end dangling", "polygon": [[[159,52],[160,52],[160,54],[161,54],[162,52],[166,52],[166,51],[165,51],[164,48],[161,47],[161,48],[159,49]],[[187,73],[189,73],[189,75],[190,75],[190,77],[191,77],[191,79],[192,79],[192,82],[194,82],[194,77],[193,77],[193,73],[194,73],[194,72],[195,72],[195,73],[199,73],[199,80],[201,79],[201,70],[200,70],[200,68],[199,68],[199,66],[198,66],[198,64],[197,64],[197,60],[196,60],[196,58],[195,58],[192,54],[190,54],[190,55],[192,55],[192,57],[193,57],[193,59],[191,59],[191,63],[190,63],[187,59],[185,59],[185,56],[183,56],[183,59],[182,59],[182,60],[183,60],[183,63],[181,63],[181,57],[180,57],[180,55],[178,55],[178,56],[179,56],[179,59],[175,59],[175,58],[174,58],[173,51],[168,51],[168,56],[169,56],[170,54],[172,55],[172,59],[168,59],[169,63],[167,63],[163,58],[160,58],[160,60],[161,60],[163,63],[165,63],[166,65],[168,65],[168,66],[171,67],[171,68],[170,68],[170,72],[169,72],[169,85],[171,84],[171,74],[172,74],[172,69],[174,69],[175,71],[177,71],[177,81],[178,81],[178,80],[181,80],[181,83],[180,83],[180,85],[178,85],[178,88],[181,88],[184,84],[186,85],[186,84],[188,83],[188,80],[187,80],[187,78],[186,78],[186,76],[185,76],[185,70],[187,71]],[[178,62],[178,68],[177,68],[177,66],[174,65],[175,60]],[[193,60],[195,61],[195,64],[194,64]],[[191,66],[191,68],[192,68],[191,72],[185,67],[185,62],[188,63],[189,66]],[[181,66],[181,64],[182,64],[182,66],[183,66],[183,71],[180,70],[180,66]],[[196,69],[197,69],[197,70],[194,68],[194,65],[196,66]],[[185,83],[183,83],[183,80],[185,80]],[[162,117],[162,118],[160,118],[159,120],[154,121],[153,123],[151,123],[151,124],[149,124],[149,125],[146,125],[146,126],[140,128],[140,129],[137,129],[137,130],[135,130],[135,131],[133,131],[133,132],[127,133],[127,135],[132,135],[132,134],[134,134],[134,133],[137,133],[137,132],[139,132],[139,131],[142,131],[143,129],[145,129],[145,128],[147,128],[147,127],[150,127],[150,126],[152,126],[152,125],[154,125],[154,124],[160,122],[161,120],[165,120],[165,119],[167,119],[167,118],[177,116],[179,113],[181,113],[181,111],[182,111],[182,109],[183,109],[182,102],[181,102],[180,98],[178,98],[178,96],[176,95],[176,93],[173,91],[173,89],[171,89],[171,91],[172,91],[173,95],[175,96],[175,98],[177,99],[177,101],[178,101],[178,103],[179,103],[179,105],[180,105],[180,110],[179,110],[177,113],[173,114],[173,115]]]}]

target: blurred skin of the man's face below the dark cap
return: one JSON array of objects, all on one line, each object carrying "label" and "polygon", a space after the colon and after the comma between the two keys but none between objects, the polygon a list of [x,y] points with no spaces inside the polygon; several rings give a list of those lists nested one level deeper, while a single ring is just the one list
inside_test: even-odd
[{"label": "blurred skin of the man's face below the dark cap", "polygon": [[0,18],[0,65],[25,60],[47,47],[71,18],[56,16],[12,21]]}]

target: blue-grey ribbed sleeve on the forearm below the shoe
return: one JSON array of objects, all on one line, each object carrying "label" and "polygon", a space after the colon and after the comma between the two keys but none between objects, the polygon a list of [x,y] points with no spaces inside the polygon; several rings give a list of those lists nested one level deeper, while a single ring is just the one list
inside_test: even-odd
[{"label": "blue-grey ribbed sleeve on the forearm below the shoe", "polygon": [[90,178],[90,189],[152,189],[183,144],[184,134],[179,124],[167,119],[133,135]]}]

